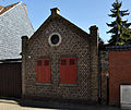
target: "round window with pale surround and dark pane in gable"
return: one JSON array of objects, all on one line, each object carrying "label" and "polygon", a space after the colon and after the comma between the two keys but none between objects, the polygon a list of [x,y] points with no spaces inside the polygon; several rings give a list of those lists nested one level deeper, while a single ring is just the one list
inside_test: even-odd
[{"label": "round window with pale surround and dark pane in gable", "polygon": [[50,46],[59,46],[61,42],[61,35],[58,33],[52,33],[48,38]]}]

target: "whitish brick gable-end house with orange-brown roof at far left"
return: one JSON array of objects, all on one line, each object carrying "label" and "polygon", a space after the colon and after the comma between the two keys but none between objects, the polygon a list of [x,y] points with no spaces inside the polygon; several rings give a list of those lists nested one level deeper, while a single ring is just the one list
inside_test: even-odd
[{"label": "whitish brick gable-end house with orange-brown roof at far left", "polygon": [[8,7],[0,5],[0,60],[20,59],[21,36],[33,34],[34,28],[25,4],[19,2]]}]

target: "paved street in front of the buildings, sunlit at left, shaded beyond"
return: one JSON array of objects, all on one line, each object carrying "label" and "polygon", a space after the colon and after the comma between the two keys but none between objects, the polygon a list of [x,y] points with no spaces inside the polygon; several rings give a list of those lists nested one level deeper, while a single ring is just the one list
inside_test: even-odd
[{"label": "paved street in front of the buildings, sunlit at left, shaded beyond", "polygon": [[0,99],[0,110],[121,110],[119,107]]}]

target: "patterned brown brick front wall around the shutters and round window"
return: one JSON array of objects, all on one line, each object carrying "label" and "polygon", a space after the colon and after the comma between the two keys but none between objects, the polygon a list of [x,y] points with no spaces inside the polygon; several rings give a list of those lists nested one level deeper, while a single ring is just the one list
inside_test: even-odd
[{"label": "patterned brown brick front wall around the shutters and round window", "polygon": [[[31,39],[22,38],[23,97],[97,102],[97,38],[95,38],[97,36],[84,35],[83,32],[78,34],[78,27],[71,29],[66,20],[59,15],[51,17]],[[61,35],[61,44],[58,47],[51,47],[48,42],[52,33]],[[59,84],[59,62],[62,57],[76,57],[78,85]],[[49,58],[51,61],[50,85],[36,82],[38,58]]]}]

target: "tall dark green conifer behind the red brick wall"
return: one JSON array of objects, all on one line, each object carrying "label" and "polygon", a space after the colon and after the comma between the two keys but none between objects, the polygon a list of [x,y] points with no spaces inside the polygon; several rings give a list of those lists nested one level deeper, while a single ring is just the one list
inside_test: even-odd
[{"label": "tall dark green conifer behind the red brick wall", "polygon": [[107,23],[107,26],[111,27],[110,30],[107,32],[111,34],[111,39],[109,40],[109,45],[131,45],[131,33],[130,25],[127,21],[122,21],[122,16],[129,15],[129,10],[121,11],[120,8],[122,2],[116,0],[112,3],[111,14],[109,16],[115,17],[115,21],[110,24]]}]

